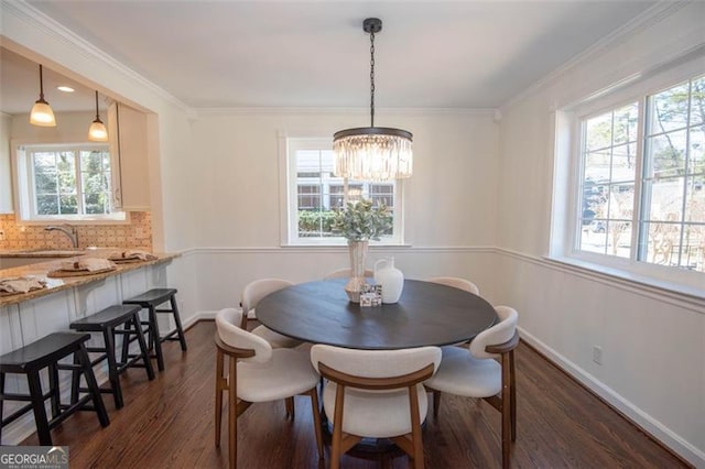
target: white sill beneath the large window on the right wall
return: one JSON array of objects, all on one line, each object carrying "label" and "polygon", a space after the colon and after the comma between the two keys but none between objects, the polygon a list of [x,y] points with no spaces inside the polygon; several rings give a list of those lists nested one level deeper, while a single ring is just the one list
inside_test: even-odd
[{"label": "white sill beneath the large window on the right wall", "polygon": [[626,283],[636,284],[639,287],[655,288],[662,292],[686,296],[698,301],[705,299],[705,288],[698,288],[696,286],[684,285],[675,282],[668,282],[622,269],[584,261],[582,259],[565,257],[544,257],[543,259],[557,265],[568,266],[571,269],[575,269],[576,271],[583,271],[592,275],[617,279]]}]

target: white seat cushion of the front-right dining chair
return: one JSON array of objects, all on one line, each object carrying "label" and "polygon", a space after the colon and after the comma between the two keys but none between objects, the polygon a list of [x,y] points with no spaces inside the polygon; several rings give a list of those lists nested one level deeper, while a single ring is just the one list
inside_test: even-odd
[{"label": "white seat cushion of the front-right dining chair", "polygon": [[502,388],[502,369],[492,359],[477,359],[466,348],[442,347],[438,371],[426,388],[466,397],[489,397]]}]

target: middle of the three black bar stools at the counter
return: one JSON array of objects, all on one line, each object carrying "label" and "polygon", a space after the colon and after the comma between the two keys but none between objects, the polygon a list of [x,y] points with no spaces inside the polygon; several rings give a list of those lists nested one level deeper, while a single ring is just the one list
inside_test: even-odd
[{"label": "middle of the three black bar stools at the counter", "polygon": [[[100,353],[91,360],[90,364],[96,366],[104,360],[108,360],[109,389],[100,389],[100,392],[112,393],[116,408],[122,408],[122,389],[120,388],[120,373],[130,367],[144,368],[147,378],[154,379],[154,369],[150,360],[147,341],[142,334],[139,313],[142,308],[138,305],[115,305],[105,308],[94,315],[75,320],[70,328],[80,332],[101,332],[102,347],[86,347],[90,352]],[[121,326],[121,328],[119,328]],[[137,340],[140,345],[140,353],[128,355],[121,361],[116,358],[116,336],[122,336],[123,347]],[[141,361],[141,363],[139,363]],[[75,401],[78,393],[79,374],[74,373],[72,380],[72,401]]]}]

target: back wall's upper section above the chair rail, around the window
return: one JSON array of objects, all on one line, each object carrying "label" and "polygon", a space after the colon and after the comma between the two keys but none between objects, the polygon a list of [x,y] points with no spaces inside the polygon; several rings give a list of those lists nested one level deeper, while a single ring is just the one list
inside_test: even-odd
[{"label": "back wall's upper section above the chair rail, around the window", "polygon": [[[270,112],[204,117],[193,124],[198,168],[188,175],[196,246],[280,246],[278,135],[332,137],[358,113]],[[406,241],[414,247],[492,244],[498,129],[489,112],[382,113],[414,134],[414,176],[403,182]]]}]

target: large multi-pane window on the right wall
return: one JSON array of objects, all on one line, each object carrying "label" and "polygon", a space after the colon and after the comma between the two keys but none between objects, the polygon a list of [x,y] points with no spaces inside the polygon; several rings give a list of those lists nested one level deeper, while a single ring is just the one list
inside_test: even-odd
[{"label": "large multi-pane window on the right wall", "polygon": [[657,265],[705,272],[702,70],[576,122],[573,253],[606,264],[628,260],[647,273]]}]

